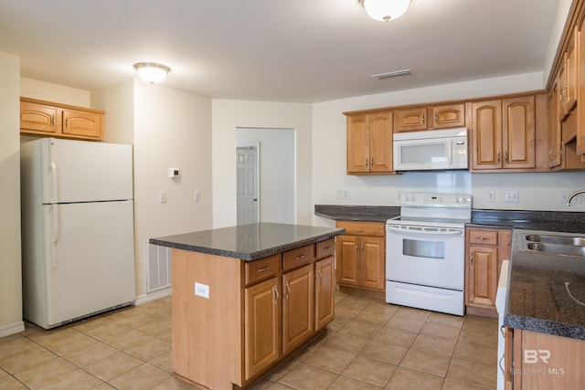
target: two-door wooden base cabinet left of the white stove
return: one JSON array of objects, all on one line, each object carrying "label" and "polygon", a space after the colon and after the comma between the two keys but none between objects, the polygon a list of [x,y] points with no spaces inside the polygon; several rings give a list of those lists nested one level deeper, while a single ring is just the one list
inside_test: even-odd
[{"label": "two-door wooden base cabinet left of the white stove", "polygon": [[336,281],[340,286],[384,291],[386,288],[386,224],[337,221],[346,234],[336,240]]}]

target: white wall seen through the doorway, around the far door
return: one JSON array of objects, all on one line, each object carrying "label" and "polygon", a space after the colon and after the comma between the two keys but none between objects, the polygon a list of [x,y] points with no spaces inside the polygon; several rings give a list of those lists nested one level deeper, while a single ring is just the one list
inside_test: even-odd
[{"label": "white wall seen through the doorway, around the far door", "polygon": [[236,130],[238,145],[260,145],[260,222],[296,222],[295,138],[293,129]]}]

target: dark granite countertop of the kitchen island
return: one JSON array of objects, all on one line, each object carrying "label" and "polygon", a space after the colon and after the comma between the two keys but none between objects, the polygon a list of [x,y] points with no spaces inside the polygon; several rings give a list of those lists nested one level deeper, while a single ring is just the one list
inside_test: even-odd
[{"label": "dark granite countertop of the kitchen island", "polygon": [[257,260],[344,234],[345,229],[261,222],[151,238],[162,247]]}]

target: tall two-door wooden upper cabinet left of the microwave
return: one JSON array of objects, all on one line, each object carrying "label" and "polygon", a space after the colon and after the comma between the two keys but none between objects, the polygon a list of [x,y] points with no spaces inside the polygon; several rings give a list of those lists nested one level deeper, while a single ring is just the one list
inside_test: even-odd
[{"label": "tall two-door wooden upper cabinet left of the microwave", "polygon": [[347,116],[347,174],[392,173],[392,112]]}]

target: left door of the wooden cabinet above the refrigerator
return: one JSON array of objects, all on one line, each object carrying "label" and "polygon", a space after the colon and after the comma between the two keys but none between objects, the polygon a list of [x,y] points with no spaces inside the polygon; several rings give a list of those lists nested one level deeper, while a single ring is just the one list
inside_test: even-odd
[{"label": "left door of the wooden cabinet above the refrigerator", "polygon": [[20,131],[56,134],[60,132],[61,121],[57,107],[43,104],[20,102]]}]

